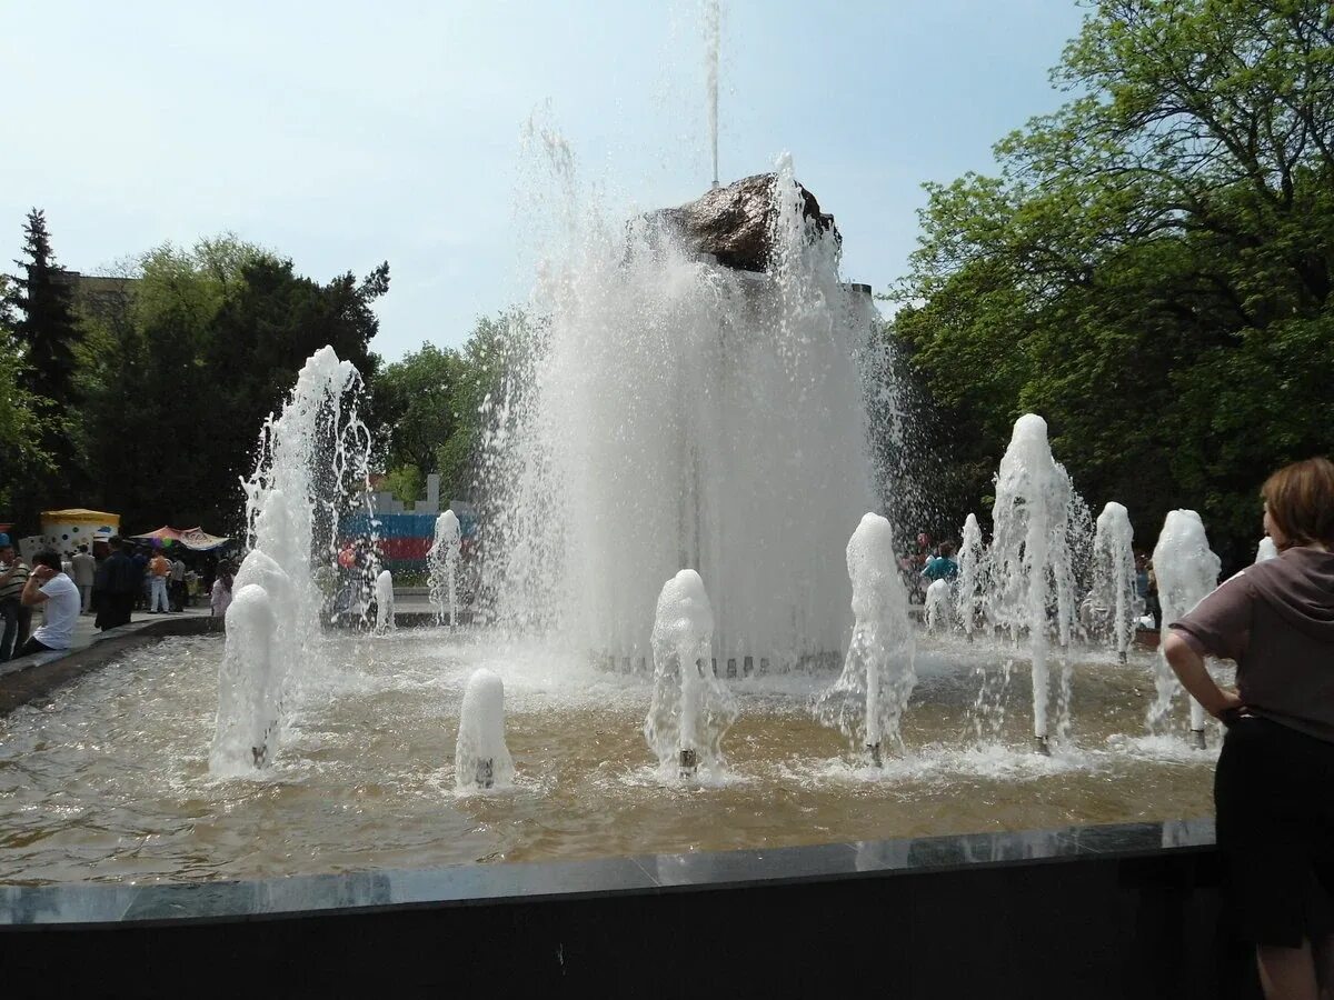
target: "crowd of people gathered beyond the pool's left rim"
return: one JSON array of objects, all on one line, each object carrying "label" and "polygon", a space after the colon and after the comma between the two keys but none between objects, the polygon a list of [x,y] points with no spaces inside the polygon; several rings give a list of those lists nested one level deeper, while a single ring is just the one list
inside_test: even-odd
[{"label": "crowd of people gathered beyond the pool's left rim", "polygon": [[[209,596],[209,609],[223,615],[231,603],[235,568],[215,556],[185,561],[185,552],[135,545],[120,536],[80,545],[68,561],[55,551],[39,552],[29,567],[8,535],[0,533],[0,663],[41,652],[68,649],[80,615],[93,615],[99,629],[128,624],[136,611],[180,613],[191,603],[191,585]],[[43,621],[32,629],[33,612]]]}]

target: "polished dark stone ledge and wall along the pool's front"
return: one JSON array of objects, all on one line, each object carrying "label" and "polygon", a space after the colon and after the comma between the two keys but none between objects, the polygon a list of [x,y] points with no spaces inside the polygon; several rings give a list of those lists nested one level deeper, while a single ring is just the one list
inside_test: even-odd
[{"label": "polished dark stone ledge and wall along the pool's front", "polygon": [[1213,823],[0,887],[0,967],[52,995],[1253,997]]}]

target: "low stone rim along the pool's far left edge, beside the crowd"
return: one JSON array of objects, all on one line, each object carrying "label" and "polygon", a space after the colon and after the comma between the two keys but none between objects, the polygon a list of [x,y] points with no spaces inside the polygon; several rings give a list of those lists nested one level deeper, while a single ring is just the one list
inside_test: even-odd
[{"label": "low stone rim along the pool's far left edge, beside the crowd", "polygon": [[119,660],[131,649],[167,636],[197,636],[221,632],[223,620],[200,615],[135,621],[93,637],[91,645],[69,652],[19,656],[0,664],[0,716],[68,684],[76,677]]}]

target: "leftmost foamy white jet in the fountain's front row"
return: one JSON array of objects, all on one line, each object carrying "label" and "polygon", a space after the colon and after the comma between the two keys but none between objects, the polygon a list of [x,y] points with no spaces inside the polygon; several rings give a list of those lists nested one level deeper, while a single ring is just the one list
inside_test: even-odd
[{"label": "leftmost foamy white jet in the fountain's front row", "polygon": [[209,771],[225,777],[251,773],[271,763],[283,708],[284,644],[273,601],[256,583],[236,585],[233,591],[227,608],[227,644],[217,671],[217,719],[208,756]]}]

